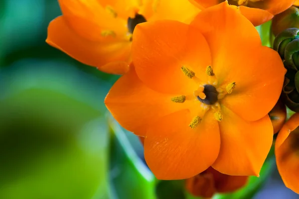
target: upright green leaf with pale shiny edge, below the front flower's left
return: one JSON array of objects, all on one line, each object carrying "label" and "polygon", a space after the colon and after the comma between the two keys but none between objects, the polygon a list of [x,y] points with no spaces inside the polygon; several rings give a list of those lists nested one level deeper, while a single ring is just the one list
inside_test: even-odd
[{"label": "upright green leaf with pale shiny edge, below the front flower's left", "polygon": [[156,199],[155,178],[134,151],[125,131],[111,120],[110,177],[114,199]]}]

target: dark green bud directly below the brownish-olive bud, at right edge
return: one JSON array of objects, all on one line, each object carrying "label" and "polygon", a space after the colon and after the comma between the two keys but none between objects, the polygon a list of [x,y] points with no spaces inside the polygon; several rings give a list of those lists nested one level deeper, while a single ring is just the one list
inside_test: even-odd
[{"label": "dark green bud directly below the brownish-olive bud, at right edge", "polygon": [[[285,50],[287,45],[292,42],[294,39],[299,38],[299,29],[298,28],[288,28],[282,31],[274,40],[273,49],[276,50],[281,58],[285,59]],[[289,49],[290,51],[294,51],[293,48]],[[289,54],[288,54],[289,57]]]}]

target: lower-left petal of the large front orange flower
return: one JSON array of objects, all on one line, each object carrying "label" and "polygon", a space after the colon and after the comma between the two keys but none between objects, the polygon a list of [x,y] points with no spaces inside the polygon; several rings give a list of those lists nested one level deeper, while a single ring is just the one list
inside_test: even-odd
[{"label": "lower-left petal of the large front orange flower", "polygon": [[181,110],[151,125],[145,139],[145,158],[161,180],[186,179],[206,170],[217,158],[220,137],[217,121],[208,111],[194,129],[192,117]]}]

